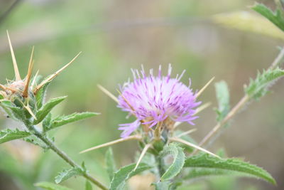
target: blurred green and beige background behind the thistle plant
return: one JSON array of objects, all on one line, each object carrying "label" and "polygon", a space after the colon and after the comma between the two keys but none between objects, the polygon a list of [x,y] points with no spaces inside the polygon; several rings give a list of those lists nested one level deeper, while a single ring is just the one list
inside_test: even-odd
[{"label": "blurred green and beige background behind the thistle plant", "polygon": [[[273,8],[273,1],[259,1]],[[104,170],[104,153],[99,149],[78,154],[82,149],[119,138],[118,125],[130,122],[126,113],[104,95],[97,84],[117,95],[118,84],[131,77],[130,68],[158,69],[164,72],[173,64],[173,74],[187,70],[182,81],[192,79],[194,90],[202,88],[215,76],[226,80],[231,105],[243,95],[243,86],[257,70],[268,68],[283,46],[283,38],[241,31],[214,22],[215,14],[253,11],[249,0],[160,0],[160,1],[71,1],[26,0],[0,1],[0,83],[13,79],[13,68],[6,30],[9,30],[21,75],[25,75],[32,46],[35,46],[35,70],[49,75],[82,54],[50,85],[48,97],[68,95],[54,115],[75,111],[101,112],[97,117],[67,125],[52,132],[55,143],[77,162],[86,162],[94,176],[109,183]],[[200,189],[284,189],[284,80],[261,101],[251,102],[234,117],[231,127],[217,139],[212,151],[224,148],[228,157],[267,169],[278,181],[272,186],[256,179],[214,179]],[[200,141],[216,123],[217,106],[214,85],[200,97],[212,106],[195,121]],[[22,127],[0,115],[0,128]],[[182,125],[190,129],[190,125]],[[136,142],[114,145],[119,166],[133,162]],[[38,181],[53,181],[68,166],[53,154],[23,141],[0,146],[0,189],[35,189]],[[138,189],[151,177],[136,178],[131,188]],[[212,185],[204,186],[211,183]],[[63,183],[82,189],[80,177]],[[221,184],[221,185],[220,185]],[[146,189],[146,187],[140,187]],[[187,188],[185,188],[187,189]]]}]

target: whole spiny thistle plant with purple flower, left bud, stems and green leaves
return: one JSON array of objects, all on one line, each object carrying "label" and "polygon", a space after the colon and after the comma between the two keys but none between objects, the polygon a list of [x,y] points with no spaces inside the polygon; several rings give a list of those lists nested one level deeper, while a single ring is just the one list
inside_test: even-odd
[{"label": "whole spiny thistle plant with purple flower, left bud, stems and green leaves", "polygon": [[[278,2],[278,1],[276,1]],[[253,9],[268,18],[275,26],[284,31],[284,14],[281,4],[278,4],[274,13],[262,4],[256,4]],[[8,35],[9,38],[9,35]],[[220,130],[229,126],[229,121],[248,102],[259,100],[268,93],[268,88],[284,75],[280,63],[284,58],[284,49],[281,48],[279,55],[268,69],[258,72],[255,79],[251,79],[249,85],[244,87],[244,97],[230,108],[229,89],[226,82],[215,84],[218,107],[217,125],[202,139],[200,143],[192,138],[195,128],[188,131],[179,130],[179,125],[185,122],[195,125],[199,112],[209,107],[210,103],[203,103],[200,95],[212,83],[214,78],[200,90],[192,90],[191,80],[189,84],[180,81],[185,71],[176,77],[172,77],[172,66],[168,65],[168,73],[162,75],[162,68],[154,73],[151,69],[146,72],[131,70],[133,79],[119,87],[119,96],[112,95],[107,89],[99,85],[99,88],[109,95],[117,106],[128,113],[131,122],[118,124],[121,130],[121,138],[105,144],[100,144],[80,153],[89,152],[113,144],[136,140],[140,151],[136,162],[116,169],[114,154],[109,148],[106,153],[107,172],[110,184],[104,185],[94,176],[91,176],[84,163],[77,164],[65,152],[59,149],[49,137],[48,132],[70,122],[83,120],[94,115],[96,112],[75,112],[72,115],[53,117],[51,110],[66,97],[57,97],[45,100],[45,93],[52,80],[65,70],[79,54],[67,63],[63,68],[46,78],[40,78],[38,73],[32,76],[33,51],[28,66],[28,73],[21,78],[18,65],[13,53],[11,41],[11,56],[15,73],[14,80],[8,80],[6,84],[0,84],[0,107],[9,119],[22,122],[24,130],[7,129],[0,132],[0,144],[13,139],[23,139],[43,149],[50,149],[58,154],[67,164],[69,169],[61,171],[55,176],[55,184],[39,182],[36,186],[45,189],[69,189],[60,183],[72,176],[82,176],[87,179],[86,190],[92,189],[92,184],[100,189],[124,189],[126,182],[131,176],[140,173],[151,173],[155,176],[152,186],[155,189],[177,189],[182,184],[190,184],[192,180],[203,179],[208,176],[247,176],[263,179],[276,184],[273,176],[266,170],[256,165],[245,162],[238,158],[225,158],[224,154],[210,152],[208,149],[212,137],[219,134]],[[134,118],[134,119],[132,119]],[[35,181],[38,182],[38,181]],[[92,184],[91,184],[92,183]],[[150,188],[150,187],[149,187]]]}]

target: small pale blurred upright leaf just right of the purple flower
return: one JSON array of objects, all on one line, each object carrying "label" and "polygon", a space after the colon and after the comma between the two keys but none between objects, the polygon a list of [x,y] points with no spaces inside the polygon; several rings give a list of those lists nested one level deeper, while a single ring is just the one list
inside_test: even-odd
[{"label": "small pale blurred upright leaf just right of the purple flower", "polygon": [[220,122],[226,117],[230,110],[230,95],[228,85],[224,80],[215,83],[216,97],[218,100],[217,121]]}]

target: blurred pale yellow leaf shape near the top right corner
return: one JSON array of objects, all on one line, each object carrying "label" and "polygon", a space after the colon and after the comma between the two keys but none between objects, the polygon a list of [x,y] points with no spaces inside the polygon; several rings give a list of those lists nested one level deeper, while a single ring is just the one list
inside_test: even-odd
[{"label": "blurred pale yellow leaf shape near the top right corner", "polygon": [[248,11],[236,11],[232,13],[217,14],[212,17],[214,23],[235,28],[240,31],[259,33],[284,40],[284,33],[263,16],[258,16]]}]

